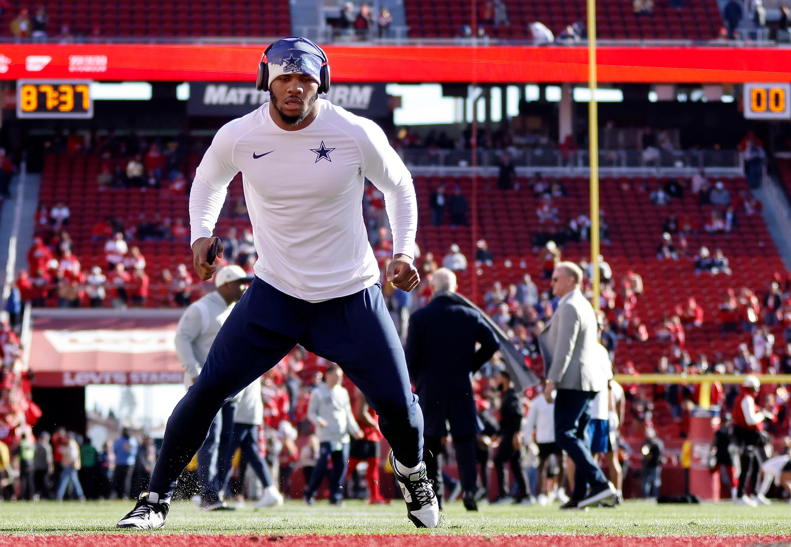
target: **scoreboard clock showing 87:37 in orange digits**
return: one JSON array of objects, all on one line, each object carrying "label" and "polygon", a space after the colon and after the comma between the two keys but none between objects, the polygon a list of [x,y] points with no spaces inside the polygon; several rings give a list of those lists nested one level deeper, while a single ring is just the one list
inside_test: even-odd
[{"label": "scoreboard clock showing 87:37 in orange digits", "polygon": [[18,80],[17,118],[93,118],[90,80]]}]

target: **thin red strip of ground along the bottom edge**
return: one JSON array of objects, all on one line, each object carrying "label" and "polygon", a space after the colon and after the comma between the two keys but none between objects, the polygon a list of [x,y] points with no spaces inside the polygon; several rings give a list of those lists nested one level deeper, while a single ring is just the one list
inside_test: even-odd
[{"label": "thin red strip of ground along the bottom edge", "polygon": [[0,547],[786,547],[791,536],[596,536],[596,535],[343,535],[200,536],[86,534],[0,536]]}]

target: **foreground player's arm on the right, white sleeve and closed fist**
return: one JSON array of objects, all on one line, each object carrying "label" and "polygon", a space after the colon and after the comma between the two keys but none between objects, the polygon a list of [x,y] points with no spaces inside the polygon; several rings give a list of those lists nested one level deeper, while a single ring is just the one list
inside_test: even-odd
[{"label": "foreground player's arm on the right, white sleeve and closed fist", "polygon": [[393,235],[393,259],[385,278],[398,289],[411,291],[420,276],[414,264],[414,238],[418,231],[418,199],[412,175],[388,142],[380,126],[369,120],[362,125],[359,141],[362,151],[361,172],[384,194]]}]

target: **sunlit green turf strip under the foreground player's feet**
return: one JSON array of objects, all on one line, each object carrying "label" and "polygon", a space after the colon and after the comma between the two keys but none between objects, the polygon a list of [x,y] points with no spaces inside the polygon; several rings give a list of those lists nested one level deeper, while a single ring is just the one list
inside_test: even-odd
[{"label": "sunlit green turf strip under the foreground player's feet", "polygon": [[[115,533],[115,522],[131,509],[128,502],[2,502],[0,534]],[[235,513],[202,513],[187,503],[171,508],[165,534],[789,534],[791,506],[740,507],[729,503],[657,505],[626,502],[618,509],[559,511],[552,507],[484,506],[467,513],[460,503],[445,511],[433,532],[417,530],[405,515],[403,502],[372,507],[360,501],[346,507],[317,502],[307,507],[296,501],[283,507],[253,511],[252,505]],[[121,533],[134,533],[127,530]]]}]

